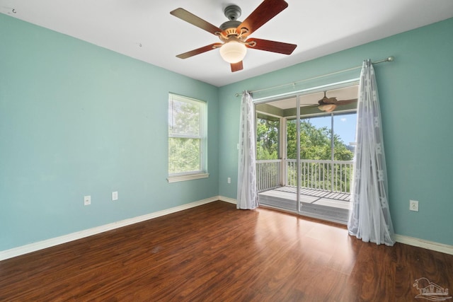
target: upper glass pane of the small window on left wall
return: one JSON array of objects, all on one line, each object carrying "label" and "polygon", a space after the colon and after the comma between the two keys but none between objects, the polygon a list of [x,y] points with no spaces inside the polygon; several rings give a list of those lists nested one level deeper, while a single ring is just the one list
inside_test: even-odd
[{"label": "upper glass pane of the small window on left wall", "polygon": [[171,98],[168,102],[168,134],[200,137],[201,107],[200,102]]}]

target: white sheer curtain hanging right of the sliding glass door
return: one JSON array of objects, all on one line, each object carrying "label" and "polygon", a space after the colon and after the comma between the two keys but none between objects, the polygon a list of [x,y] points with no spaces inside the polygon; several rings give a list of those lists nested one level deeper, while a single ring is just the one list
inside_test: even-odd
[{"label": "white sheer curtain hanging right of the sliding glass door", "polygon": [[394,245],[379,97],[369,59],[362,64],[358,97],[357,147],[348,231],[366,242]]}]

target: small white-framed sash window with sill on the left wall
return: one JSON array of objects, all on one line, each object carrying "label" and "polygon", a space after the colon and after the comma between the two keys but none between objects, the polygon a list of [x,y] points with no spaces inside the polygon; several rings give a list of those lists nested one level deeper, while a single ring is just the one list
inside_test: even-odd
[{"label": "small white-framed sash window with sill on the left wall", "polygon": [[206,103],[168,95],[168,182],[207,178]]}]

